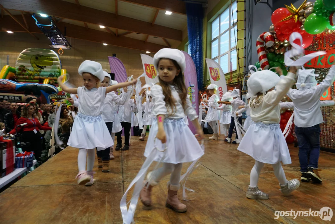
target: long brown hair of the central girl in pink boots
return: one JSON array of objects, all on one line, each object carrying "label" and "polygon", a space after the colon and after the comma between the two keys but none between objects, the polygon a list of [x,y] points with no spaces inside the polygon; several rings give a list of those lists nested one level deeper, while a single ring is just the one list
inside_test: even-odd
[{"label": "long brown hair of the central girl in pink boots", "polygon": [[[169,59],[169,58],[161,58],[158,61],[158,65],[160,60],[162,59]],[[177,75],[174,80],[173,80],[173,85],[176,85],[178,88],[178,92],[179,92],[179,97],[182,100],[182,106],[185,109],[186,106],[186,96],[187,96],[187,89],[186,89],[186,85],[185,85],[185,81],[184,81],[184,75],[182,73],[182,70],[180,68],[180,66],[178,65],[178,63],[173,60],[173,59],[169,59],[173,62],[173,64],[176,66],[177,70],[180,70],[179,75]],[[163,95],[164,95],[164,101],[167,105],[169,105],[172,109],[172,114],[173,115],[175,112],[174,110],[176,109],[176,102],[175,99],[173,98],[172,94],[171,94],[171,89],[169,86],[169,83],[164,82],[163,80],[161,80],[158,76],[158,80],[159,80],[159,85],[162,87],[163,89]]]}]

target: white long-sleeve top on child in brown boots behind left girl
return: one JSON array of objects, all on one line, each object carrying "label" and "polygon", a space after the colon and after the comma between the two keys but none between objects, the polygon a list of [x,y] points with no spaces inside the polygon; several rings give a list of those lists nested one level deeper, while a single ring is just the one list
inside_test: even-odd
[{"label": "white long-sleeve top on child in brown boots behind left girl", "polygon": [[[130,92],[130,91],[128,91]],[[118,96],[115,91],[106,94],[102,117],[105,122],[114,122],[115,113],[118,112],[119,106],[124,105],[129,93]]]}]

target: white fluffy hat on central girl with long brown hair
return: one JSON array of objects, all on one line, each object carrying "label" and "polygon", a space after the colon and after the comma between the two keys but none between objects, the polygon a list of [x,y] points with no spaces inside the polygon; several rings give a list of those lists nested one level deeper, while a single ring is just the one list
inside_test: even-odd
[{"label": "white fluffy hat on central girl with long brown hair", "polygon": [[186,63],[185,63],[185,55],[183,52],[179,51],[178,49],[172,49],[172,48],[160,49],[153,56],[153,65],[155,66],[157,71],[158,71],[158,62],[159,62],[159,59],[161,58],[169,58],[169,59],[175,60],[180,66],[182,72],[184,73],[185,68],[186,68]]}]

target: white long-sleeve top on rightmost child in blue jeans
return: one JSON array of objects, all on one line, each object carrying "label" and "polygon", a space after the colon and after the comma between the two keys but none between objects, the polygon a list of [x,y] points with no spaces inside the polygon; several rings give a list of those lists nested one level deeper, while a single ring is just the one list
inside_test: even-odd
[{"label": "white long-sleeve top on rightmost child in blue jeans", "polygon": [[313,127],[323,123],[320,109],[320,97],[333,84],[335,79],[335,66],[333,65],[325,79],[317,86],[308,89],[290,89],[287,96],[294,103],[294,124],[300,128]]}]

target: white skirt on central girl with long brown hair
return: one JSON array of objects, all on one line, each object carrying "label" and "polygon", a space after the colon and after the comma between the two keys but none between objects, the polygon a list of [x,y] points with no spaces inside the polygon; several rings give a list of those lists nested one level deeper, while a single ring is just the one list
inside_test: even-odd
[{"label": "white skirt on central girl with long brown hair", "polygon": [[160,140],[156,139],[158,124],[157,119],[155,119],[145,146],[145,157],[150,155],[155,144],[159,150],[163,150],[165,145],[167,149],[164,152],[158,152],[154,161],[160,161],[162,158],[161,162],[165,163],[192,162],[204,154],[204,150],[201,148],[198,140],[185,124],[184,118],[179,120],[165,119],[164,131],[166,134],[166,144],[162,144]]}]

